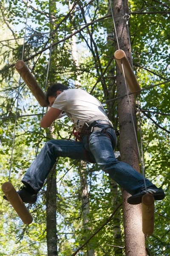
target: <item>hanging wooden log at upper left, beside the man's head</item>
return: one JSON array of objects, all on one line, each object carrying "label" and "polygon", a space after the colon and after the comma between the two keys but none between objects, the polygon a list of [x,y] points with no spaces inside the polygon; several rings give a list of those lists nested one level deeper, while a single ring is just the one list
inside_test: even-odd
[{"label": "hanging wooden log at upper left, beside the man's head", "polygon": [[15,64],[15,68],[19,74],[21,74],[22,79],[27,84],[28,88],[31,90],[31,93],[35,96],[37,101],[40,103],[42,107],[47,107],[47,103],[45,101],[45,93],[42,91],[40,85],[37,83],[34,76],[29,71],[24,61],[17,61]]}]

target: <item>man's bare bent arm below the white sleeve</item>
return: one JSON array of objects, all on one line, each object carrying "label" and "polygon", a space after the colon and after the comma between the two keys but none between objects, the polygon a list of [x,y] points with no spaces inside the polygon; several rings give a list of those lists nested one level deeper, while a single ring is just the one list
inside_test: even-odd
[{"label": "man's bare bent arm below the white sleeve", "polygon": [[40,125],[42,128],[48,128],[52,124],[52,122],[57,119],[62,110],[57,108],[50,108],[45,116],[42,117]]}]

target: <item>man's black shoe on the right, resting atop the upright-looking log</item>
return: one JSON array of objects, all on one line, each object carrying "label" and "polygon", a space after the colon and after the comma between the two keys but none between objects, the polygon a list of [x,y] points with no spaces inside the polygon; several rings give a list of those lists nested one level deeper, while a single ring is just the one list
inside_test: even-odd
[{"label": "man's black shoe on the right, resting atop the upright-looking log", "polygon": [[[153,188],[149,187],[147,189],[147,192],[155,198],[155,200],[162,200],[165,197],[164,190],[163,189],[158,189],[158,188]],[[146,194],[146,190],[142,190],[139,193],[136,193],[135,195],[130,196],[127,198],[127,203],[129,204],[140,204],[142,203],[142,196]]]}]

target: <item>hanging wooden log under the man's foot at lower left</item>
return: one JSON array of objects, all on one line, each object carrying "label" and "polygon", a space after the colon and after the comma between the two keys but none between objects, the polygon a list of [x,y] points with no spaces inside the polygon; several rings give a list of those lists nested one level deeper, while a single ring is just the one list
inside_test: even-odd
[{"label": "hanging wooden log under the man's foot at lower left", "polygon": [[17,212],[18,216],[21,218],[24,224],[31,224],[33,218],[23,203],[22,199],[18,195],[17,191],[14,189],[14,186],[11,182],[5,182],[1,186],[2,191],[8,198],[8,201],[11,203],[14,210]]}]

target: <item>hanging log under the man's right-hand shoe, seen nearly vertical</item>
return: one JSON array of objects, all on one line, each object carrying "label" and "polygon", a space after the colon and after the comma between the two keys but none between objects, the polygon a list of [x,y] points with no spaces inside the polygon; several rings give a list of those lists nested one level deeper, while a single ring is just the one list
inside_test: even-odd
[{"label": "hanging log under the man's right-hand shoe, seen nearly vertical", "polygon": [[142,197],[142,231],[146,236],[154,231],[154,197],[149,193]]}]

